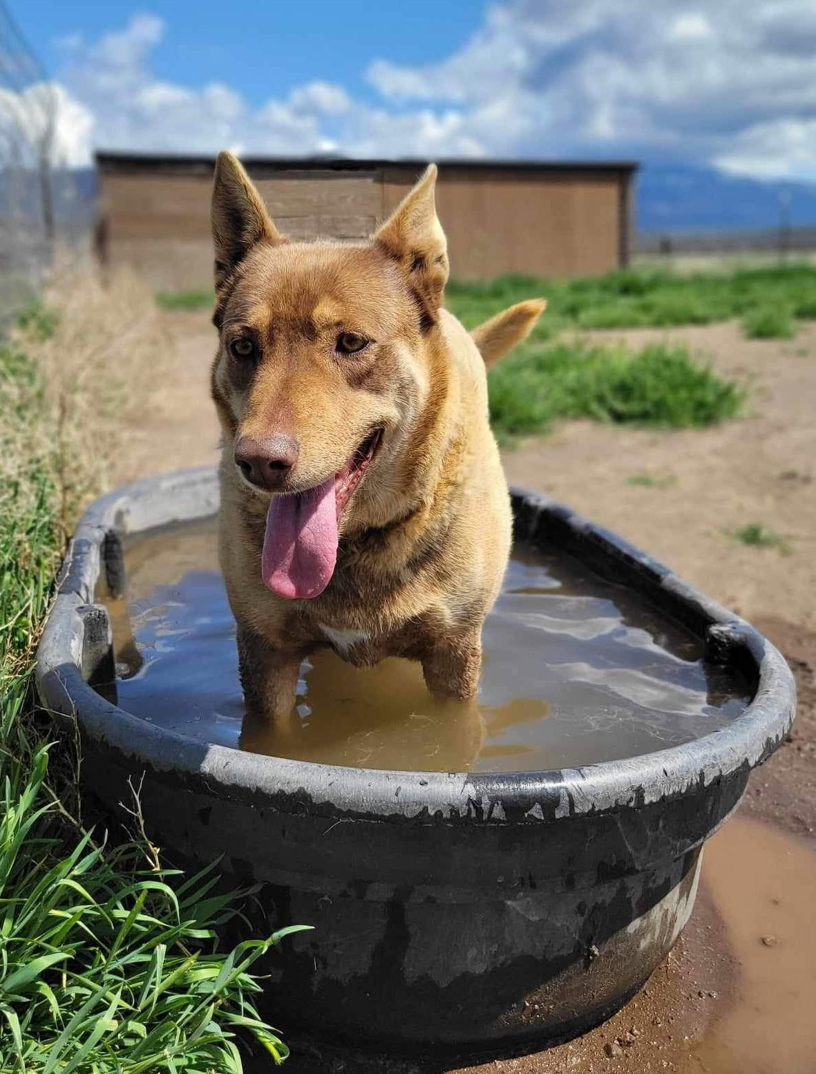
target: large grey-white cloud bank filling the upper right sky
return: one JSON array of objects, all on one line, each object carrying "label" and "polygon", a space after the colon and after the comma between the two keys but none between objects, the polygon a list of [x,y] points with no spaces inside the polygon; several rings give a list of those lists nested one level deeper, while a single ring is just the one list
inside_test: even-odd
[{"label": "large grey-white cloud bank filling the upper right sky", "polygon": [[[813,0],[515,0],[442,62],[380,60],[368,77],[402,106],[456,102],[463,132],[491,153],[727,160],[816,178]],[[753,154],[760,142],[770,153]]]}]

